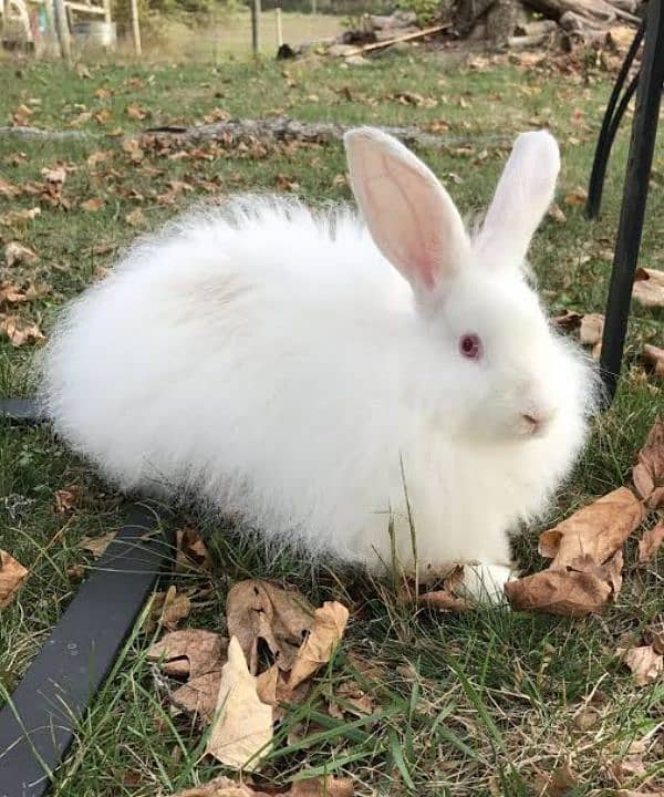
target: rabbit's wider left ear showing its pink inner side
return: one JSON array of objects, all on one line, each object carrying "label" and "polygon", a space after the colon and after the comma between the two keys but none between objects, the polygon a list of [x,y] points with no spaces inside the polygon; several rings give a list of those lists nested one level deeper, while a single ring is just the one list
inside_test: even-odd
[{"label": "rabbit's wider left ear showing its pink inner side", "polygon": [[344,142],[353,193],[376,246],[417,293],[432,291],[470,248],[454,203],[396,138],[360,127]]}]

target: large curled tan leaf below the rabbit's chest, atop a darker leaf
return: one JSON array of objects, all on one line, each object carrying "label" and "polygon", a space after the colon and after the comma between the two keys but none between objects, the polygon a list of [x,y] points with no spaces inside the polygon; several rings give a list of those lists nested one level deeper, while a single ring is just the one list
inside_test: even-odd
[{"label": "large curled tan leaf below the rabbit's chest, atop a darker leaf", "polygon": [[588,569],[589,562],[602,565],[615,553],[642,520],[643,509],[636,496],[619,487],[544,531],[539,551],[553,557],[551,568]]}]

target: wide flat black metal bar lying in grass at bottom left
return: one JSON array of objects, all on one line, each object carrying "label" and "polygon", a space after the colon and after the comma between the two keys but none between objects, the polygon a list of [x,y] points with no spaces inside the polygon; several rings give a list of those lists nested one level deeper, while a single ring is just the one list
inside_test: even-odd
[{"label": "wide flat black metal bar lying in grass at bottom left", "polygon": [[81,586],[10,703],[0,710],[0,797],[48,793],[79,721],[170,553],[155,510],[131,505],[127,525]]}]

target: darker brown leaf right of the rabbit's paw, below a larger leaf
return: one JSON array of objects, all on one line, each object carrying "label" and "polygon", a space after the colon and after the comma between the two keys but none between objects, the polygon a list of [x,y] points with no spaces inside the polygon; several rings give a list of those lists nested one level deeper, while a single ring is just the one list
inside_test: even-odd
[{"label": "darker brown leaf right of the rabbit's paw, below a larger leaf", "polygon": [[542,570],[505,584],[512,608],[579,618],[598,611],[612,593],[611,584],[592,572]]}]

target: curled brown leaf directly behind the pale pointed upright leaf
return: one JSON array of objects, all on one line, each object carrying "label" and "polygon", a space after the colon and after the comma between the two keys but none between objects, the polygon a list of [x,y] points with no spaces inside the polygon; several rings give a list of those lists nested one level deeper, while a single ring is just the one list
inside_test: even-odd
[{"label": "curled brown leaf directly behind the pale pointed upright leaf", "polygon": [[281,670],[290,670],[313,622],[313,608],[295,591],[269,581],[235,584],[226,602],[228,633],[237,636],[249,670],[258,670],[258,640],[263,639]]}]

